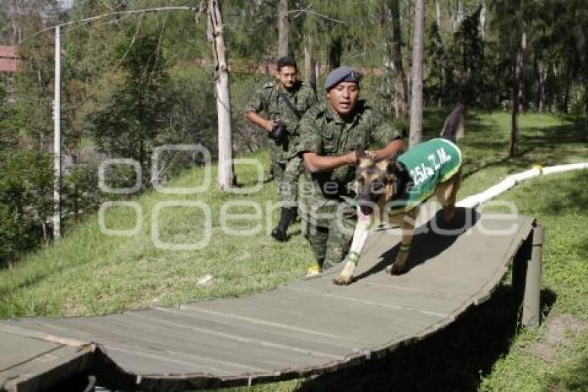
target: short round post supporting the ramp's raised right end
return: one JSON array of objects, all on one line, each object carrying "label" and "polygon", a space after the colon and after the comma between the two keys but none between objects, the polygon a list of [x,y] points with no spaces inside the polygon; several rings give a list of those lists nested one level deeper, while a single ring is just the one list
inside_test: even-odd
[{"label": "short round post supporting the ramp's raised right end", "polygon": [[543,256],[544,226],[533,228],[533,249],[527,262],[522,324],[537,328],[541,322],[541,259]]}]

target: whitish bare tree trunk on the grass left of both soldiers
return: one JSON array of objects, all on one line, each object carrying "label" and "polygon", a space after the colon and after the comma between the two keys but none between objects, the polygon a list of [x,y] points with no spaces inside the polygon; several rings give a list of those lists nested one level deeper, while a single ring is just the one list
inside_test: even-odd
[{"label": "whitish bare tree trunk on the grass left of both soldiers", "polygon": [[208,1],[208,18],[212,30],[212,50],[217,70],[215,82],[219,121],[219,175],[217,181],[221,190],[228,190],[234,184],[235,177],[232,170],[229,75],[220,0]]}]

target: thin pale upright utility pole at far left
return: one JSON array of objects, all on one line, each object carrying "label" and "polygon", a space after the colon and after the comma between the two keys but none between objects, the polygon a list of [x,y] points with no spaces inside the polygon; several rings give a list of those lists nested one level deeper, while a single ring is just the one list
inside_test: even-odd
[{"label": "thin pale upright utility pole at far left", "polygon": [[53,101],[54,126],[54,177],[53,177],[53,240],[61,237],[61,184],[62,184],[62,146],[61,146],[61,31],[55,26],[55,100]]}]

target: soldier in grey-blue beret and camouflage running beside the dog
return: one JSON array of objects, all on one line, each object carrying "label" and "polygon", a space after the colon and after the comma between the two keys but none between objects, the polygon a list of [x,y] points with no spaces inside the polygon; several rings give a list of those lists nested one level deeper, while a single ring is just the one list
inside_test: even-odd
[{"label": "soldier in grey-blue beret and camouflage running beside the dog", "polygon": [[400,134],[358,99],[360,77],[347,66],[331,71],[324,85],[327,102],[309,109],[300,122],[296,152],[306,168],[300,214],[315,255],[307,276],[336,265],[349,251],[357,215],[346,198],[355,196],[356,145],[380,148],[367,152],[374,159],[403,149]]}]

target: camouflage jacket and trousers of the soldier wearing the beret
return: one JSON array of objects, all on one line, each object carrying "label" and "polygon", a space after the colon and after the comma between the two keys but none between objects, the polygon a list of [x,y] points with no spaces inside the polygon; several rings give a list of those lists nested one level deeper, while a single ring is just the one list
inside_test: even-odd
[{"label": "camouflage jacket and trousers of the soldier wearing the beret", "polygon": [[[315,105],[300,121],[297,154],[315,152],[321,156],[337,157],[353,150],[358,144],[364,148],[383,148],[401,137],[364,100],[358,100],[347,121],[328,105]],[[356,166],[353,165],[314,174],[306,171],[300,181],[300,215],[304,235],[323,268],[343,260],[351,244],[356,211],[343,197],[354,196],[351,184],[355,171]]]}]

